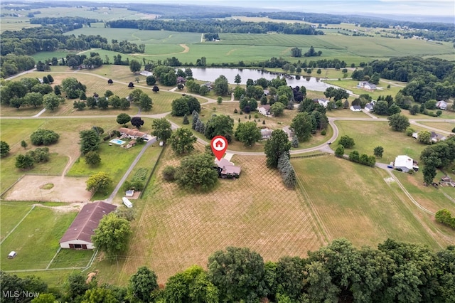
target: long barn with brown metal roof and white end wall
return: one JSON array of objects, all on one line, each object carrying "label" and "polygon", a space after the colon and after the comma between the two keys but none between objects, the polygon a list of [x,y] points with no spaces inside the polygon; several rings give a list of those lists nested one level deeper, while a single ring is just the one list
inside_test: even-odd
[{"label": "long barn with brown metal roof and white end wall", "polygon": [[60,239],[60,248],[92,250],[92,235],[103,216],[117,206],[102,201],[87,203],[77,214],[65,235]]}]

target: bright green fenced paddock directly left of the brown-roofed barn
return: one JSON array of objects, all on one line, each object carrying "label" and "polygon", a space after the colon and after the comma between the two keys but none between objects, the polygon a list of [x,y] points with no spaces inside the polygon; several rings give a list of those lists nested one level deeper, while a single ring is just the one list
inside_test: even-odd
[{"label": "bright green fenced paddock directly left of the brown-roofed barn", "polygon": [[[44,269],[58,250],[58,241],[76,214],[55,212],[50,208],[34,208],[2,243],[1,270]],[[17,257],[7,259],[11,250],[17,252]]]}]

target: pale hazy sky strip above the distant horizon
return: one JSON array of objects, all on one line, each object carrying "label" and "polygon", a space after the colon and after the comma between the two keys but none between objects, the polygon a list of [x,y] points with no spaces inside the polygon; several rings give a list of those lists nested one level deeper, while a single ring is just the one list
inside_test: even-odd
[{"label": "pale hazy sky strip above the distant horizon", "polygon": [[[126,0],[135,2],[134,0]],[[144,1],[144,0],[143,0]],[[146,3],[243,6],[314,13],[455,16],[455,0],[145,0]]]}]

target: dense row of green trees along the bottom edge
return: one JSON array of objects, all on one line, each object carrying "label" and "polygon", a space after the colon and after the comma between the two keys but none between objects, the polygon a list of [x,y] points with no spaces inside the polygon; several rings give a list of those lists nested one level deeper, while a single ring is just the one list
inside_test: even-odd
[{"label": "dense row of green trees along the bottom edge", "polygon": [[[117,228],[124,238],[127,225],[123,219]],[[109,230],[105,234],[112,238]],[[276,262],[264,262],[248,248],[228,247],[208,257],[207,270],[189,267],[163,288],[147,267],[139,267],[126,287],[98,285],[96,279],[87,284],[85,275],[73,272],[63,292],[48,289],[37,277],[0,275],[4,291],[40,292],[41,299],[50,298],[46,302],[451,302],[453,262],[453,245],[434,252],[388,239],[378,248],[355,248],[336,239],[306,258],[284,256]]]}]

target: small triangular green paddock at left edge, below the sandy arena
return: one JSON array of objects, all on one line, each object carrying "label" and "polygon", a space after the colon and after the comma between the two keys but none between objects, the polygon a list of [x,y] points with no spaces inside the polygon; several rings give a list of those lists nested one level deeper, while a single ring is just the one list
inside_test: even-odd
[{"label": "small triangular green paddock at left edge, below the sandy arena", "polygon": [[6,202],[2,201],[0,203],[0,219],[1,219],[1,229],[0,229],[0,238],[3,240],[14,226],[21,221],[21,219],[26,216],[28,211],[31,210],[31,203],[28,202]]}]

